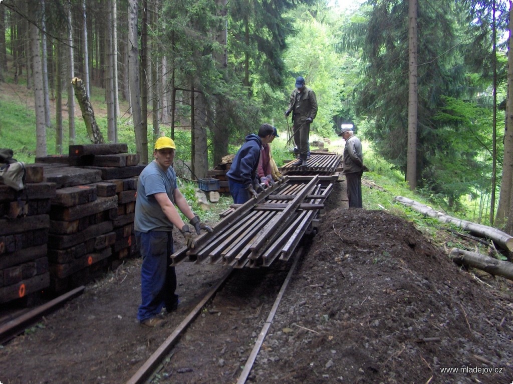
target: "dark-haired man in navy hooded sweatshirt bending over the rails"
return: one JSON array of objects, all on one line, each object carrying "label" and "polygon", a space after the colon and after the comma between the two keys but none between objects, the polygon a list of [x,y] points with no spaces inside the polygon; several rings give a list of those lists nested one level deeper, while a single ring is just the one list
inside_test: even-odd
[{"label": "dark-haired man in navy hooded sweatshirt bending over the rails", "polygon": [[235,155],[230,170],[227,172],[228,187],[235,204],[244,204],[251,198],[258,198],[255,189],[263,189],[259,183],[257,168],[260,150],[263,144],[273,139],[274,127],[264,123],[260,126],[258,136],[252,133],[246,136],[246,142]]}]

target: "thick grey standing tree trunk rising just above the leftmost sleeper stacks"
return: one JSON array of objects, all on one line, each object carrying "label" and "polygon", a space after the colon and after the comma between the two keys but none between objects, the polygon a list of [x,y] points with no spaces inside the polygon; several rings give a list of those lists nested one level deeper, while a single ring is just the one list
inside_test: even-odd
[{"label": "thick grey standing tree trunk rising just above the leftmost sleeper stacks", "polygon": [[[39,7],[32,1],[31,8],[32,19],[37,20],[37,10]],[[32,47],[32,72],[34,79],[34,101],[36,118],[36,157],[46,156],[46,121],[45,121],[45,95],[43,89],[43,71],[41,61],[41,45],[39,29],[34,23],[30,23],[30,41]]]}]

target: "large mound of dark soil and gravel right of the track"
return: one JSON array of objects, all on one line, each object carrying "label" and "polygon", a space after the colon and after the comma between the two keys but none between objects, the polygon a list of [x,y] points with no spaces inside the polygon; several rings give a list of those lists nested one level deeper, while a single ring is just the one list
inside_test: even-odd
[{"label": "large mound of dark soil and gravel right of the track", "polygon": [[279,309],[258,359],[256,382],[513,379],[511,300],[396,216],[330,211],[296,276],[290,305]]}]

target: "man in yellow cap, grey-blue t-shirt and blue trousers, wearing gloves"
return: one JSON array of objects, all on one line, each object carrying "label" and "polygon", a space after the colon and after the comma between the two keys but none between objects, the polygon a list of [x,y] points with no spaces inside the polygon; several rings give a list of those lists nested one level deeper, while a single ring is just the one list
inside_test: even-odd
[{"label": "man in yellow cap, grey-blue t-shirt and blue trousers, wearing gloves", "polygon": [[139,175],[135,200],[135,238],[141,246],[141,305],[137,319],[146,327],[161,326],[160,313],[178,306],[176,273],[169,266],[173,253],[173,225],[182,232],[187,247],[194,248],[196,242],[189,226],[185,224],[175,205],[189,219],[196,233],[212,228],[200,222],[192,212],[187,200],[178,189],[176,173],[172,167],[176,146],[169,137],[160,137],[155,142],[153,157]]}]

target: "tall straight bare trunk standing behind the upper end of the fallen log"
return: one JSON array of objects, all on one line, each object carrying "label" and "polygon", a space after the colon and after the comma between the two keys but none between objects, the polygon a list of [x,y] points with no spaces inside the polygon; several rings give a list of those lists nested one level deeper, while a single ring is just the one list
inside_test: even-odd
[{"label": "tall straight bare trunk standing behind the upper end of the fallen log", "polygon": [[411,190],[417,188],[417,0],[408,2],[408,152],[406,182]]}]

